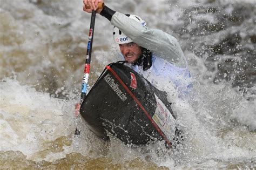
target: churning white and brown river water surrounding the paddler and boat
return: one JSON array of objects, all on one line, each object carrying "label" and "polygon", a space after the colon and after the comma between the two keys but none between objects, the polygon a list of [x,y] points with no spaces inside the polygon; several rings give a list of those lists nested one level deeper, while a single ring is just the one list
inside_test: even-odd
[{"label": "churning white and brown river water surrounding the paddler and boat", "polygon": [[[193,92],[180,100],[170,88],[185,137],[176,149],[105,143],[75,118],[90,26],[82,0],[0,3],[1,168],[256,167],[254,0],[105,2],[181,44]],[[90,86],[117,53],[110,22],[97,16]]]}]

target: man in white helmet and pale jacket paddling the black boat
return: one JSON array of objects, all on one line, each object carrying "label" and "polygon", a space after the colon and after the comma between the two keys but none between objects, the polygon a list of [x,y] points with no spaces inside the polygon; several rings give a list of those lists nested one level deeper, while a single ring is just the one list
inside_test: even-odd
[{"label": "man in white helmet and pale jacket paddling the black boat", "polygon": [[187,94],[192,81],[178,40],[164,31],[147,28],[139,16],[125,15],[106,5],[97,9],[99,2],[103,1],[83,0],[83,10],[88,13],[96,10],[111,22],[114,42],[119,44],[120,52],[131,68],[160,90],[171,82],[179,96]]}]

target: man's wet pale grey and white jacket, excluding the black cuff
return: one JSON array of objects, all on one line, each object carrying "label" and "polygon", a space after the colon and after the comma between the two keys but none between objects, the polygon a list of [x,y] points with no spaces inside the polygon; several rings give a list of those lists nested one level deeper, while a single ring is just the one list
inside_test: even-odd
[{"label": "man's wet pale grey and white jacket, excluding the black cuff", "polygon": [[[111,18],[111,24],[121,30],[134,43],[149,49],[153,53],[152,66],[143,71],[142,66],[132,66],[151,84],[160,90],[167,81],[182,93],[191,86],[191,76],[187,69],[187,61],[178,40],[168,33],[158,29],[146,29],[144,26],[123,13],[116,12]],[[167,60],[171,61],[167,62]],[[163,85],[161,85],[163,84]]]}]

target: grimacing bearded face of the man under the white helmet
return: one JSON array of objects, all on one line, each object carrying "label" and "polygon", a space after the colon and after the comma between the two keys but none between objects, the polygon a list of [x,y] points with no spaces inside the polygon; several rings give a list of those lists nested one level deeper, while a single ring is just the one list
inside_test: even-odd
[{"label": "grimacing bearded face of the man under the white helmet", "polygon": [[120,51],[128,63],[135,62],[142,54],[142,49],[136,43],[119,44]]}]

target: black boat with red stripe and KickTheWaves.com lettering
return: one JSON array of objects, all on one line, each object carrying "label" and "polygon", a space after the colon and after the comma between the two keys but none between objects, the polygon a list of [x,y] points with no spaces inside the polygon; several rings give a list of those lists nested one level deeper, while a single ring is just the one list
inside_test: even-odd
[{"label": "black boat with red stripe and KickTheWaves.com lettering", "polygon": [[109,134],[125,144],[144,145],[165,140],[171,147],[176,115],[166,93],[124,62],[106,66],[81,107],[85,124],[98,137]]}]

